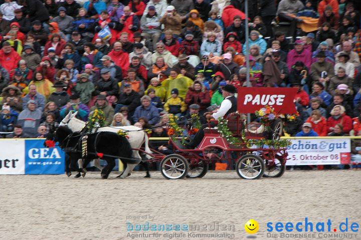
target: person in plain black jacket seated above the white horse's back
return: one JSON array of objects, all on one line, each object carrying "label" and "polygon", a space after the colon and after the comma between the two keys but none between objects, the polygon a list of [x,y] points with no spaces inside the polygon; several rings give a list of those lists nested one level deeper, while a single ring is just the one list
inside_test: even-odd
[{"label": "person in plain black jacket seated above the white horse's back", "polygon": [[119,112],[122,107],[127,107],[129,117],[131,117],[134,113],[135,108],[139,105],[139,93],[134,91],[129,83],[124,83],[123,91],[119,92],[119,98],[115,106],[115,112]]}]

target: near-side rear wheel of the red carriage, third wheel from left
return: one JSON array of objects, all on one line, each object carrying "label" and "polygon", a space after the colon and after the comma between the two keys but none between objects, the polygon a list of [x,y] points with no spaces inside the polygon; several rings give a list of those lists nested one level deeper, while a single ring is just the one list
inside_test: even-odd
[{"label": "near-side rear wheel of the red carriage, third wheel from left", "polygon": [[259,179],[263,176],[264,169],[263,159],[255,154],[243,155],[236,163],[236,171],[244,179]]}]

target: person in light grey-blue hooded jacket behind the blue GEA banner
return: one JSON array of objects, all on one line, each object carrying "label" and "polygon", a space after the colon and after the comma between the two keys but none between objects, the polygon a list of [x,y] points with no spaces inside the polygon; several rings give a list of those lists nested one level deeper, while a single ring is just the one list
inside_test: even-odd
[{"label": "person in light grey-blue hooded jacket behind the blue GEA banner", "polygon": [[42,111],[37,108],[35,100],[29,100],[26,107],[20,112],[18,124],[22,125],[25,133],[35,136],[42,117]]}]

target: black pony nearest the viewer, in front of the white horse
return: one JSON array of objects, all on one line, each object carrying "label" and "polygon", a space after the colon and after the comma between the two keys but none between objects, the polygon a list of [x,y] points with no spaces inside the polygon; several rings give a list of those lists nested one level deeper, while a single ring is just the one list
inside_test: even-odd
[{"label": "black pony nearest the viewer, in front of the white horse", "polygon": [[[86,145],[83,145],[83,137],[86,139]],[[84,135],[81,132],[73,132],[67,126],[59,126],[55,132],[48,133],[47,139],[59,142],[59,146],[70,156],[72,163],[78,159],[84,159],[84,162],[79,164],[80,168],[76,177],[80,176],[80,172],[84,176],[88,163],[93,159],[99,160],[100,157],[107,162],[101,171],[101,177],[104,179],[114,168],[115,159],[119,158],[124,166],[127,163],[138,164],[140,161],[140,159],[132,159],[132,149],[127,138],[115,132],[101,131]],[[46,143],[48,142],[46,141]],[[83,153],[86,154],[83,156]],[[126,159],[122,159],[122,157]],[[69,162],[66,164],[68,166]]]}]

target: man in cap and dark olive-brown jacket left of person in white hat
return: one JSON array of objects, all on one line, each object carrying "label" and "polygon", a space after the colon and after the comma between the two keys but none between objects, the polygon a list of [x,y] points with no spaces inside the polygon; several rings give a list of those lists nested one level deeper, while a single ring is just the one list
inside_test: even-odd
[{"label": "man in cap and dark olive-brown jacket left of person in white hat", "polygon": [[319,51],[316,57],[317,61],[311,64],[310,69],[312,82],[320,81],[327,83],[334,76],[332,63],[325,60],[326,54],[324,51]]}]

